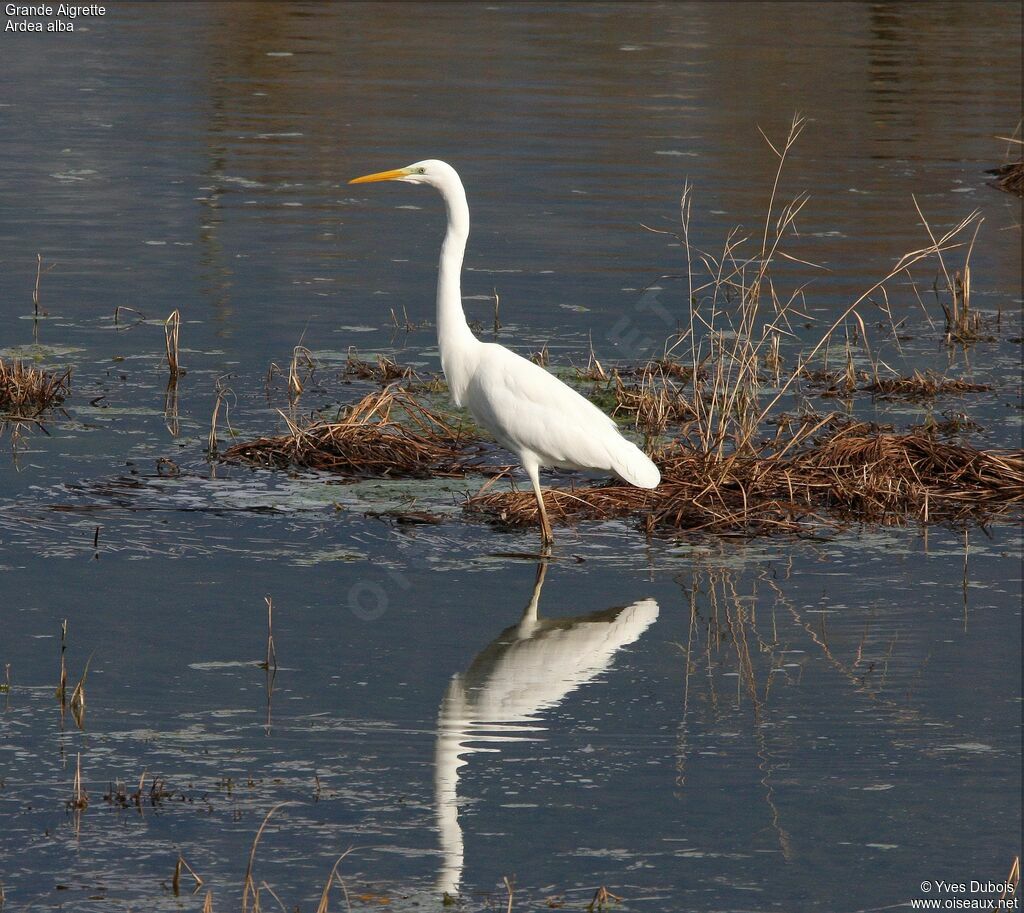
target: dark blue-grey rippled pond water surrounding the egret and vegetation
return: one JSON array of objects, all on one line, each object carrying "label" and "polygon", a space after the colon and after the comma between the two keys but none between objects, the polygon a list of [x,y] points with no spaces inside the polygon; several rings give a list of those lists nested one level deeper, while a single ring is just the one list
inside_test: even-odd
[{"label": "dark blue-grey rippled pond water surrounding the egret and vegetation", "polygon": [[[879,354],[994,389],[858,408],[969,411],[978,439],[1019,446],[1020,203],[984,170],[1020,117],[1020,31],[1013,4],[119,4],[74,35],[5,36],[0,350],[75,372],[67,415],[16,458],[8,429],[0,462],[7,905],[198,909],[187,878],[170,890],[181,853],[215,909],[237,906],[282,802],[254,874],[302,909],[350,846],[364,908],[457,887],[504,907],[504,876],[515,909],[580,909],[604,884],[649,911],[853,911],[926,878],[1001,880],[1021,812],[1013,528],[973,530],[966,554],[943,529],[673,542],[589,524],[558,531],[584,561],[538,590],[532,563],[496,557],[532,531],[462,519],[479,480],[341,485],[211,467],[204,446],[218,379],[240,437],[281,428],[265,376],[295,345],[321,364],[307,410],[370,389],[337,377],[349,346],[437,368],[432,329],[390,311],[432,316],[438,202],[347,178],[453,162],[471,318],[489,330],[497,290],[506,344],[630,360],[685,319],[659,278],[679,249],[641,223],[674,228],[689,178],[701,249],[736,224],[758,237],[774,162],[757,126],[779,141],[796,111],[782,193],[812,200],[788,250],[828,268],[785,273],[814,279],[797,344],[927,244],[911,193],[938,229],[979,208],[993,340],[946,350],[901,281],[910,339],[880,331]],[[53,268],[34,323],[37,253]],[[926,299],[935,272],[916,273]],[[116,325],[119,305],[135,312]],[[365,516],[411,498],[443,522]],[[73,684],[89,663],[81,731],[53,697],[63,618]],[[110,784],[130,796],[143,774],[167,794],[124,808]]]}]

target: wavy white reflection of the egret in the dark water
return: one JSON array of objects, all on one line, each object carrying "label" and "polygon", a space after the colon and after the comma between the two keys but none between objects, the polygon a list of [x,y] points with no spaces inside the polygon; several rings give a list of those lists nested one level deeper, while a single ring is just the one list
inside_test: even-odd
[{"label": "wavy white reflection of the egret in the dark water", "polygon": [[434,791],[443,856],[438,888],[449,895],[459,893],[462,880],[458,788],[466,755],[499,751],[502,742],[543,731],[542,710],[596,679],[657,618],[652,599],[588,615],[541,618],[546,572],[547,564],[541,564],[518,623],[484,647],[466,671],[452,677],[437,714]]}]

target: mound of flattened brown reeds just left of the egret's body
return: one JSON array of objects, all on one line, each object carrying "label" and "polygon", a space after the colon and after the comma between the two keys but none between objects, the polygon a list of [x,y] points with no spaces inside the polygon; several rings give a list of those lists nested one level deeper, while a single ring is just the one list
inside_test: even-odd
[{"label": "mound of flattened brown reeds just left of the egret's body", "polygon": [[386,388],[347,406],[334,422],[300,426],[281,412],[288,432],[236,444],[227,462],[304,467],[354,478],[464,476],[484,471],[485,447],[419,402]]}]

